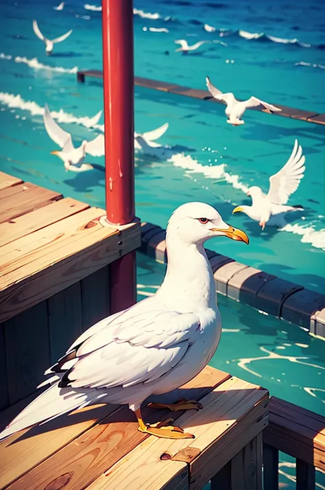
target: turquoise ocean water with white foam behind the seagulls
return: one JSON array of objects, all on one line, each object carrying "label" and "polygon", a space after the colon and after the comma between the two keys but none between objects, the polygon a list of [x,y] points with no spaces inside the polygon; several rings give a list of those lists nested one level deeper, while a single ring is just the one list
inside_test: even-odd
[{"label": "turquoise ocean water with white foam behind the seagulls", "polygon": [[[42,117],[47,103],[76,144],[104,130],[103,117],[91,124],[103,105],[100,80],[78,84],[75,74],[78,68],[101,68],[100,7],[69,0],[56,11],[55,5],[0,1],[0,169],[104,207],[104,158],[88,158],[96,165],[90,172],[66,172],[49,154],[58,147]],[[136,75],[198,89],[209,75],[219,89],[239,98],[253,94],[272,104],[325,112],[324,2],[136,0],[134,8]],[[73,33],[46,56],[33,19],[48,38]],[[175,52],[178,39],[209,43],[183,55]],[[234,128],[221,105],[136,87],[136,131],[169,123],[158,140],[165,148],[156,155],[136,152],[136,213],[165,227],[183,202],[208,202],[250,236],[250,246],[219,238],[209,248],[325,292],[325,127],[250,110],[244,119],[245,125]],[[264,231],[247,216],[232,215],[235,206],[250,203],[248,187],[267,191],[269,176],[285,164],[295,139],[306,171],[289,203],[304,211]],[[161,283],[164,269],[141,255],[138,264],[143,298]],[[220,297],[219,304],[224,335],[213,365],[324,413],[324,342],[229,299]],[[290,478],[282,482],[291,488],[292,462],[284,463]]]}]

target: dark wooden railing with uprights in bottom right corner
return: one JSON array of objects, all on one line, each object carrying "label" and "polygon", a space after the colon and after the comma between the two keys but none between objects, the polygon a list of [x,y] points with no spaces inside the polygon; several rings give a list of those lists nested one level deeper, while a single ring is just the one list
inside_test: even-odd
[{"label": "dark wooden railing with uprights in bottom right corner", "polygon": [[296,490],[315,490],[315,469],[325,471],[325,417],[271,397],[263,430],[263,490],[278,490],[279,451],[296,458]]}]

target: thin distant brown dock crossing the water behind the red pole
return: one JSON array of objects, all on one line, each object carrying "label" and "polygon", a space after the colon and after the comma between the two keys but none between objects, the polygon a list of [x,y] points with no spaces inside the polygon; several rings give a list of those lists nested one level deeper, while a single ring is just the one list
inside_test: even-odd
[{"label": "thin distant brown dock crossing the water behind the red pole", "polygon": [[[84,82],[86,77],[103,78],[103,72],[101,70],[80,70],[77,72],[78,82]],[[159,82],[158,80],[143,77],[134,77],[134,85],[143,86],[147,89],[174,93],[176,95],[186,95],[187,97],[193,97],[194,99],[208,100],[208,102],[213,102],[214,104],[224,104],[222,101],[215,100],[211,96],[210,92],[200,89],[191,89],[189,86],[181,86],[169,82]],[[261,112],[267,114],[290,117],[291,119],[300,119],[300,121],[307,121],[315,124],[325,124],[325,114],[323,113],[317,113],[315,110],[296,109],[282,106],[281,104],[275,105],[281,109],[280,112],[272,113],[267,109],[261,109],[258,107],[250,107],[250,110],[260,110]]]}]

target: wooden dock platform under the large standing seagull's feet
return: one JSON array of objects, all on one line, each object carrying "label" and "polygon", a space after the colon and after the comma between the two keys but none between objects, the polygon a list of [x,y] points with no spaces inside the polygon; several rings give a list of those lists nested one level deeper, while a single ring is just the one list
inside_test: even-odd
[{"label": "wooden dock platform under the large standing seagull's feet", "polygon": [[[170,399],[180,398],[203,405],[172,415],[195,439],[143,434],[126,406],[77,410],[0,443],[0,489],[198,490],[210,478],[214,489],[226,489],[220,470],[228,464],[231,489],[261,490],[267,390],[207,366]],[[2,426],[25,403],[2,412]],[[147,421],[170,416],[143,413]]]}]

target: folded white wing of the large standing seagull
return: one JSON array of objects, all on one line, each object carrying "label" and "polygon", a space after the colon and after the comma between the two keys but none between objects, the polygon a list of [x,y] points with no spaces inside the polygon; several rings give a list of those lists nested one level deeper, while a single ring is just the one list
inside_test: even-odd
[{"label": "folded white wing of the large standing seagull", "polygon": [[173,369],[200,336],[200,320],[193,313],[132,311],[101,320],[93,335],[76,340],[75,348],[49,371],[66,371],[62,380],[73,388],[148,383]]}]

